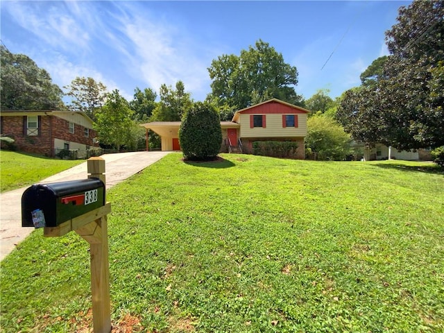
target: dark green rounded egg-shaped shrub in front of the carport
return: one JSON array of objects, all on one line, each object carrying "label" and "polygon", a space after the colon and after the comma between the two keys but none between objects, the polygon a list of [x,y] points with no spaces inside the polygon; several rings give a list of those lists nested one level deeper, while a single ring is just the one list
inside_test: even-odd
[{"label": "dark green rounded egg-shaped shrub in front of the carport", "polygon": [[185,113],[179,129],[185,160],[214,160],[222,144],[219,113],[207,102],[196,102]]}]

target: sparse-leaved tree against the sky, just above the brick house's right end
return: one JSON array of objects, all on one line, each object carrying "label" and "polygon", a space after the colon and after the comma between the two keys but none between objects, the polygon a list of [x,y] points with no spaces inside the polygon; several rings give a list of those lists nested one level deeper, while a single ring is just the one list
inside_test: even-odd
[{"label": "sparse-leaved tree against the sky, just above the brick house's right end", "polygon": [[85,112],[96,120],[96,112],[103,106],[107,94],[105,85],[94,78],[76,77],[64,88],[68,90],[66,96],[71,97],[68,108]]}]

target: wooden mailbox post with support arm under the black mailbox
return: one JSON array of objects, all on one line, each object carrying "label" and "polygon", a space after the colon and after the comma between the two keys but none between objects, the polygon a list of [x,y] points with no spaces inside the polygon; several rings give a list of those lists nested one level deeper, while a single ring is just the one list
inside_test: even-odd
[{"label": "wooden mailbox post with support arm under the black mailbox", "polygon": [[[88,178],[105,182],[105,160],[91,157],[87,160]],[[105,191],[106,193],[106,191]],[[60,237],[74,230],[89,243],[91,255],[92,321],[94,333],[111,332],[110,268],[108,260],[108,221],[111,204],[87,212],[56,227],[44,228],[45,237]]]}]

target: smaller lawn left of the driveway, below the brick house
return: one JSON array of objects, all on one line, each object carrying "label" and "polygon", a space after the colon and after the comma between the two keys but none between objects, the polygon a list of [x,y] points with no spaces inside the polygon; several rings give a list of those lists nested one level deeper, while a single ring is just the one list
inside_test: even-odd
[{"label": "smaller lawn left of the driveway, below the brick house", "polygon": [[85,161],[56,160],[31,153],[0,151],[0,191],[32,185],[82,162]]}]

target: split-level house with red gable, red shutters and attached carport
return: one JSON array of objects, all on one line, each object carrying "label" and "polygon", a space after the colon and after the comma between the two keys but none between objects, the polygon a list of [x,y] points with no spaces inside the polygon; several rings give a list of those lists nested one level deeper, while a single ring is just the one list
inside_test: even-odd
[{"label": "split-level house with red gable, red shutters and attached carport", "polygon": [[[252,153],[253,142],[292,141],[298,143],[296,158],[305,158],[307,114],[309,110],[271,99],[237,111],[232,121],[221,121],[223,142],[221,152]],[[157,133],[162,151],[180,151],[180,121],[154,121],[142,124]]]}]

